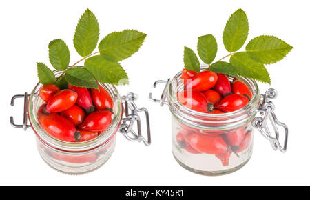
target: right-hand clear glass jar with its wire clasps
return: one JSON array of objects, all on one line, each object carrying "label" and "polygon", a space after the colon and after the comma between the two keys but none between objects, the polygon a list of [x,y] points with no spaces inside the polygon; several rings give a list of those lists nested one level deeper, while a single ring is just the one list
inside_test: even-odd
[{"label": "right-hand clear glass jar with its wire clasps", "polygon": [[[169,106],[172,113],[172,153],[180,166],[209,176],[228,174],[242,168],[252,154],[254,127],[259,127],[260,132],[271,141],[273,148],[285,152],[287,127],[270,119],[273,125],[285,128],[285,146],[282,148],[278,141],[277,126],[274,133],[276,136],[273,137],[266,125],[267,119],[274,114],[274,106],[271,108],[269,99],[276,97],[276,90],[269,89],[268,94],[260,95],[256,81],[240,77],[252,93],[247,106],[224,114],[196,112],[177,99],[177,92],[184,90],[181,75],[182,72],[179,72],[172,80],[154,83],[154,88],[158,83],[166,84],[161,99],[153,99],[152,93],[149,94],[151,101]],[[255,118],[258,111],[265,114],[265,117]]]}]

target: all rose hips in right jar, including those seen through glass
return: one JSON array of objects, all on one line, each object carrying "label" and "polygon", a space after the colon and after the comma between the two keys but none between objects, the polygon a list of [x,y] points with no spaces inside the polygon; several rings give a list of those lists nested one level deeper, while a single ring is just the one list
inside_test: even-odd
[{"label": "all rose hips in right jar, including those seen through glass", "polygon": [[[231,82],[225,74],[183,69],[181,79],[184,90],[178,92],[178,101],[198,112],[234,112],[246,106],[252,97],[251,90],[244,82],[236,78]],[[251,132],[245,127],[230,132],[203,134],[184,124],[180,126],[182,130],[176,135],[180,148],[192,154],[214,154],[223,166],[229,165],[232,152],[238,156],[238,152],[247,149],[251,141]]]}]

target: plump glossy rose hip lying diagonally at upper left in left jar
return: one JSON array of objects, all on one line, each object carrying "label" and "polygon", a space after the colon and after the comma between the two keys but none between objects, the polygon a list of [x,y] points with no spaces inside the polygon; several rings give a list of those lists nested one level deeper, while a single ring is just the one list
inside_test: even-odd
[{"label": "plump glossy rose hip lying diagonally at upper left in left jar", "polygon": [[61,112],[74,105],[77,99],[77,93],[73,90],[61,90],[54,94],[52,99],[46,105],[47,112]]}]

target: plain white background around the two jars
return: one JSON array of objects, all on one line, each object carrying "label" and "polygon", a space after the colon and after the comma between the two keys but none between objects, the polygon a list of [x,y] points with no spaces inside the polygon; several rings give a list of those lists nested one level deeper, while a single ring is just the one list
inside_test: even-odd
[{"label": "plain white background around the two jars", "polygon": [[[121,94],[139,94],[138,106],[149,109],[152,146],[132,143],[118,134],[112,157],[99,170],[69,176],[52,170],[39,156],[32,130],[12,128],[9,116],[21,122],[22,101],[10,106],[14,94],[30,92],[37,83],[36,62],[49,64],[48,43],[68,44],[71,63],[79,60],[73,46],[76,23],[86,8],[99,19],[102,39],[113,31],[145,32],[145,43],[122,61],[130,86]],[[242,8],[249,18],[249,39],[271,34],[293,46],[288,56],[267,66],[276,88],[278,119],[289,126],[287,153],[271,149],[257,131],[254,154],[242,169],[221,177],[204,177],[176,163],[171,152],[169,110],[148,101],[157,79],[173,77],[183,68],[183,46],[196,51],[199,36],[214,34],[218,57],[227,54],[221,40],[230,14]],[[0,185],[42,186],[276,186],[310,185],[309,157],[309,6],[307,1],[1,1],[1,131]],[[249,41],[247,40],[247,42]],[[247,43],[246,42],[246,43]],[[161,89],[156,90],[161,94]]]}]

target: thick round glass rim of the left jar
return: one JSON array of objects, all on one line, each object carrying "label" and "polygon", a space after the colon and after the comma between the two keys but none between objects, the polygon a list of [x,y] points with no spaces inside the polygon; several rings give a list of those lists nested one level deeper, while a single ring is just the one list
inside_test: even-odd
[{"label": "thick round glass rim of the left jar", "polygon": [[[62,72],[54,70],[54,74],[56,77],[59,77]],[[100,134],[98,137],[84,142],[65,142],[59,139],[52,137],[48,132],[46,132],[37,119],[37,110],[39,106],[43,103],[43,101],[39,98],[38,92],[39,89],[43,86],[42,83],[37,83],[30,94],[29,102],[28,102],[28,118],[30,121],[30,125],[34,133],[39,137],[39,139],[52,148],[56,148],[59,150],[67,151],[67,152],[83,152],[87,150],[92,150],[99,146],[103,146],[105,143],[110,141],[110,139],[114,136],[114,134],[118,131],[118,128],[121,124],[121,118],[123,115],[123,106],[121,101],[121,96],[118,93],[118,90],[115,86],[110,84],[103,84],[98,82],[107,92],[109,92],[112,99],[114,99],[114,117],[112,119],[112,123],[110,124],[107,130]]]}]

